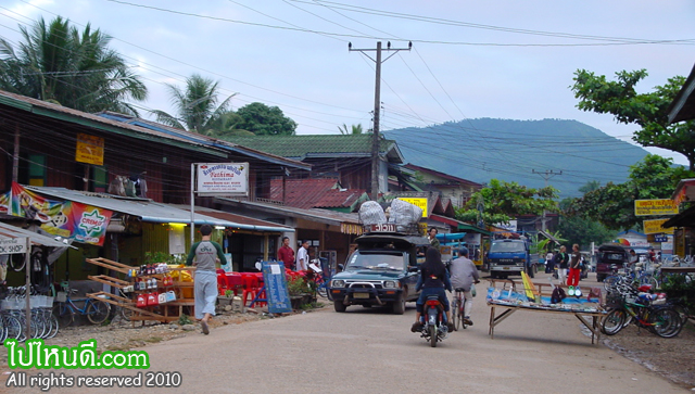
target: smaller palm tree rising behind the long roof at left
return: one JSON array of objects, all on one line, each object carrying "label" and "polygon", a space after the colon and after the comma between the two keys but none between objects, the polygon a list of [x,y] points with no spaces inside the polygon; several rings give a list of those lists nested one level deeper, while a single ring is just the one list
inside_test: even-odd
[{"label": "smaller palm tree rising behind the long roof at left", "polygon": [[230,100],[237,93],[231,94],[219,105],[217,105],[217,94],[219,82],[203,78],[193,74],[186,78],[185,90],[175,85],[167,85],[172,96],[172,104],[176,107],[177,115],[170,115],[164,111],[152,111],[156,120],[165,125],[205,134],[228,122],[224,117],[229,116],[228,110]]}]

